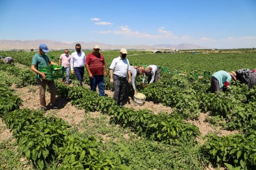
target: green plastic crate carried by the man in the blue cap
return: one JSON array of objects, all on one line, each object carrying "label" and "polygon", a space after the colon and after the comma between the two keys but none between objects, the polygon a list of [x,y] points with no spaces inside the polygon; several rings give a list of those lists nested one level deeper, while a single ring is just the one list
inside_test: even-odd
[{"label": "green plastic crate carried by the man in the blue cap", "polygon": [[[49,67],[39,67],[38,70],[45,74],[45,80],[64,78],[64,67],[62,66],[50,65]],[[39,78],[42,77],[39,75]]]}]

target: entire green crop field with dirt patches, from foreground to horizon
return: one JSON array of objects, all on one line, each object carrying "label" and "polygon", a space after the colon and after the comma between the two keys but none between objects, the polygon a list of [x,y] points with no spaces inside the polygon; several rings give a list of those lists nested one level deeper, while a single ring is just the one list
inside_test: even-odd
[{"label": "entire green crop field with dirt patches, from foreground to horizon", "polygon": [[[100,98],[88,89],[86,75],[83,87],[76,80],[69,87],[56,80],[60,109],[45,114],[38,111],[38,86],[30,70],[35,53],[0,52],[16,61],[14,66],[0,64],[0,135],[5,136],[0,169],[256,168],[256,90],[233,81],[226,92],[211,94],[211,77],[204,76],[205,71],[255,69],[256,52],[128,50],[131,65],[161,67],[161,80],[150,87],[140,86],[141,77],[137,80],[146,95],[143,107],[117,107],[109,76],[109,95]],[[62,53],[48,56],[56,62]],[[102,54],[107,68],[119,56],[118,51]]]}]

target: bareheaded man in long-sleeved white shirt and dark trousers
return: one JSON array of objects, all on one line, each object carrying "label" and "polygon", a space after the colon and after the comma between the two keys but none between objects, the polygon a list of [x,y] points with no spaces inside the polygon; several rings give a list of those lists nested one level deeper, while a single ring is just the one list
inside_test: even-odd
[{"label": "bareheaded man in long-sleeved white shirt and dark trousers", "polygon": [[82,85],[84,78],[84,65],[86,64],[86,54],[81,51],[80,44],[76,44],[75,48],[76,51],[71,54],[70,59],[71,74],[76,73],[76,78],[80,82],[80,85]]}]

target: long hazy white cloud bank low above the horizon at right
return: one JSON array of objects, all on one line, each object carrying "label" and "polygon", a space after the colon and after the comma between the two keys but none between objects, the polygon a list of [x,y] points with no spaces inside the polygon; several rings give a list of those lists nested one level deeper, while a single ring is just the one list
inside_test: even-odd
[{"label": "long hazy white cloud bank low above the horizon at right", "polygon": [[195,45],[203,45],[209,48],[252,48],[255,47],[256,37],[226,37],[224,39],[214,39],[211,37],[192,37],[190,35],[176,36],[170,30],[166,30],[165,27],[159,27],[156,30],[156,34],[148,34],[146,32],[140,32],[133,30],[127,25],[116,27],[110,30],[95,31],[95,34],[113,34],[119,35],[128,41],[128,39],[135,41],[136,43],[192,43]]}]

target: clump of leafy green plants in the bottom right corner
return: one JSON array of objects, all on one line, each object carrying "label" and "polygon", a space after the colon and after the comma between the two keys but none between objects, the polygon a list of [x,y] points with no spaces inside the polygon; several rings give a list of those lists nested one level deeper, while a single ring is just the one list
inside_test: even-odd
[{"label": "clump of leafy green plants in the bottom right corner", "polygon": [[251,166],[256,165],[255,134],[222,137],[209,134],[203,147],[205,154],[209,154],[217,164],[226,163],[242,169],[251,169]]}]

